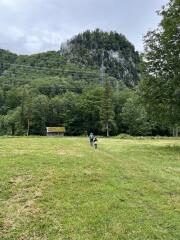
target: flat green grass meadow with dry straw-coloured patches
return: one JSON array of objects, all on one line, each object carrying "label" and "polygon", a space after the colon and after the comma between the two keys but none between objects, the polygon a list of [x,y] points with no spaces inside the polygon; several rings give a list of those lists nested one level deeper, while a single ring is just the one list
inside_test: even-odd
[{"label": "flat green grass meadow with dry straw-coloured patches", "polygon": [[0,239],[179,240],[180,139],[0,138]]}]

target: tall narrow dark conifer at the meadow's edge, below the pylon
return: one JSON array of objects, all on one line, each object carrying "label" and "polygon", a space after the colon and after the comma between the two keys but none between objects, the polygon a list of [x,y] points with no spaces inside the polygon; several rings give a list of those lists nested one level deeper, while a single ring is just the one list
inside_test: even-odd
[{"label": "tall narrow dark conifer at the meadow's edge, below the pylon", "polygon": [[100,119],[102,131],[106,132],[106,136],[109,137],[109,132],[114,126],[114,107],[112,103],[112,89],[108,79],[104,83],[104,91],[102,95]]}]

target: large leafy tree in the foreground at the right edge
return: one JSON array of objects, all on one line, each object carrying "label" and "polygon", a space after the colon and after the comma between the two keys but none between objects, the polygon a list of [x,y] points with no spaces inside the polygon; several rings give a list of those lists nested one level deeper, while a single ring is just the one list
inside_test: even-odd
[{"label": "large leafy tree in the foreground at the right edge", "polygon": [[158,29],[145,37],[141,93],[151,117],[163,126],[180,126],[180,1],[170,0],[159,14]]}]

